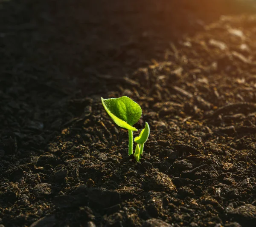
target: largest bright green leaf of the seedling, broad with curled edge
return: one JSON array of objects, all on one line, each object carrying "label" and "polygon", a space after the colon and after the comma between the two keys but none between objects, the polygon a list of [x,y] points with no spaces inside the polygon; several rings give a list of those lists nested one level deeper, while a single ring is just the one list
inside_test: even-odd
[{"label": "largest bright green leaf of the seedling, broad with curled edge", "polygon": [[116,125],[131,131],[138,131],[137,128],[132,127],[139,121],[142,114],[138,103],[127,96],[112,99],[101,98],[101,100],[102,105]]}]

